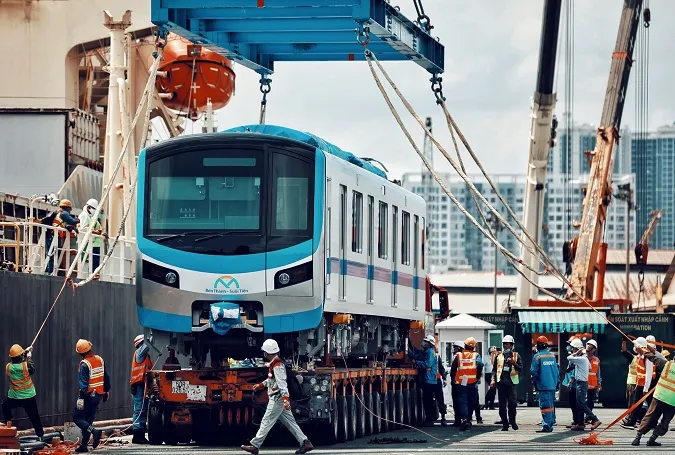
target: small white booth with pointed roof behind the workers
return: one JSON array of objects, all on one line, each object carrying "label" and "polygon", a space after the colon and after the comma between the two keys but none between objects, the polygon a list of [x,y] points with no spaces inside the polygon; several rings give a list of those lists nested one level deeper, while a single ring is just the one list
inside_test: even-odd
[{"label": "small white booth with pointed roof behind the workers", "polygon": [[[501,331],[496,330],[494,324],[485,322],[470,314],[462,313],[457,316],[448,318],[436,324],[436,331],[438,332],[438,341],[440,343],[439,352],[441,353],[441,360],[448,372],[448,384],[451,384],[450,366],[452,365],[452,344],[455,341],[464,341],[468,337],[476,339],[476,352],[480,354],[483,362],[489,361],[487,350],[494,345],[495,340],[501,343]],[[485,403],[485,394],[489,384],[485,384],[484,378],[480,378],[478,386],[478,396],[481,403]],[[445,395],[445,402],[451,403],[450,387],[443,389]]]}]

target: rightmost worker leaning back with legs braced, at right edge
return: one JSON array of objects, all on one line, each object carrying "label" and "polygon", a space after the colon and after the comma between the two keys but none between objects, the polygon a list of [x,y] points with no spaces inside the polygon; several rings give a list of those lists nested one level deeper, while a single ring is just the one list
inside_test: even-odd
[{"label": "rightmost worker leaning back with legs braced, at right edge", "polygon": [[[656,442],[656,439],[666,434],[668,426],[675,416],[675,362],[657,356],[656,347],[651,343],[646,348],[639,348],[639,351],[646,360],[654,364],[654,368],[660,373],[660,377],[656,383],[652,402],[647,414],[642,419],[642,423],[640,423],[632,445],[639,446],[642,436],[653,429],[647,445],[658,447],[661,443]],[[660,422],[659,419],[661,419]]]}]

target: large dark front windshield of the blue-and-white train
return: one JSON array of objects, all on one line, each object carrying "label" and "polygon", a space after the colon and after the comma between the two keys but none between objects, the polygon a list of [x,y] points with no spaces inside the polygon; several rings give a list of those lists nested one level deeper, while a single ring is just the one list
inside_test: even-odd
[{"label": "large dark front windshield of the blue-and-white train", "polygon": [[144,236],[202,254],[272,251],[312,236],[314,166],[283,150],[177,152],[147,165]]}]

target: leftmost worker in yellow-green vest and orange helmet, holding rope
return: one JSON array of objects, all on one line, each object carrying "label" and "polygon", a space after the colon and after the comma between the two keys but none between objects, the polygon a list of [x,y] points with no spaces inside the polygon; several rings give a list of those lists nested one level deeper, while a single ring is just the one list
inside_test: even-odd
[{"label": "leftmost worker in yellow-green vest and orange helmet, holding rope", "polygon": [[35,399],[35,385],[31,376],[35,373],[33,365],[32,348],[24,350],[18,344],[9,348],[11,363],[5,367],[9,391],[7,398],[2,402],[2,417],[7,423],[12,420],[12,409],[23,408],[35,429],[35,435],[42,438],[45,432],[42,428],[40,413]]}]

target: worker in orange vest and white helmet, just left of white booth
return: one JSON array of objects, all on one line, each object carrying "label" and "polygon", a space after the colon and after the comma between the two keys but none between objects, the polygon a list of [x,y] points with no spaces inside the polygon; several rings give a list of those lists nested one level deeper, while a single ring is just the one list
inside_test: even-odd
[{"label": "worker in orange vest and white helmet, just left of white booth", "polygon": [[464,350],[455,355],[450,368],[450,377],[457,387],[459,399],[460,431],[471,428],[471,415],[478,401],[478,378],[483,373],[483,361],[480,354],[474,352],[476,339],[464,340]]}]

